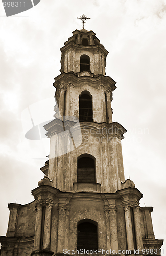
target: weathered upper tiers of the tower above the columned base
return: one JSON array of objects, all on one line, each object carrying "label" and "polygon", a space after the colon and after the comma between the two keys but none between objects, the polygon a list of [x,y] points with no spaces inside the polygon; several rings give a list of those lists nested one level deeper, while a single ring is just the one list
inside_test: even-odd
[{"label": "weathered upper tiers of the tower above the columned base", "polygon": [[[126,129],[117,122],[112,123],[111,101],[116,82],[105,76],[108,52],[95,33],[85,29],[75,30],[61,52],[61,74],[54,83],[56,119],[45,125],[51,139],[48,178],[54,187],[62,191],[90,189],[115,193],[125,185],[121,140]],[[82,143],[79,146],[78,127],[74,125],[76,121],[81,131]],[[60,138],[59,134],[55,134],[60,123],[62,130],[63,125],[71,125],[74,144],[69,142],[69,133],[66,133],[65,138],[64,135]],[[62,147],[66,155],[62,154]],[[78,172],[82,176],[88,175],[84,167],[78,170],[78,161],[81,163],[82,157],[85,162],[91,159],[94,161],[93,184],[90,184],[90,180],[82,182],[79,179],[78,182]]]}]

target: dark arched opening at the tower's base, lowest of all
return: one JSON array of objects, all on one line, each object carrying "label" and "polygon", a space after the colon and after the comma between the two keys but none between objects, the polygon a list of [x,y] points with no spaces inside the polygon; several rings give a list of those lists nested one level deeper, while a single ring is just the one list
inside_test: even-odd
[{"label": "dark arched opening at the tower's base, lowest of all", "polygon": [[77,250],[98,249],[98,227],[94,221],[85,219],[77,226]]}]

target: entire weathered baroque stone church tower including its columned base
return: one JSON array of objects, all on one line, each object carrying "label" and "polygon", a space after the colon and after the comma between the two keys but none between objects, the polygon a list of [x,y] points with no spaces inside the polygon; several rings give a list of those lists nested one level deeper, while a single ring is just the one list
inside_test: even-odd
[{"label": "entire weathered baroque stone church tower including its columned base", "polygon": [[[50,155],[27,205],[9,204],[1,256],[157,254],[153,207],[124,177],[121,140],[112,122],[116,82],[106,76],[107,50],[96,34],[75,30],[61,48],[55,119],[44,126]],[[7,252],[7,254],[6,254]]]}]

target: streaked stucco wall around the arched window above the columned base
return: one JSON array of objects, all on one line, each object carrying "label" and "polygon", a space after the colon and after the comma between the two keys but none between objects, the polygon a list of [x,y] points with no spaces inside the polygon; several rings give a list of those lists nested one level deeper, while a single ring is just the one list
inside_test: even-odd
[{"label": "streaked stucco wall around the arched window above the columned base", "polygon": [[[114,193],[122,189],[124,170],[121,138],[116,137],[109,125],[84,122],[81,124],[82,143],[67,154],[54,157],[59,147],[66,147],[61,140],[53,136],[50,146],[49,179],[52,185],[62,191],[74,191],[77,182],[77,159],[82,154],[89,154],[96,159],[96,183],[101,184],[101,192]],[[68,142],[67,142],[68,141]],[[53,146],[54,145],[54,146]]]}]

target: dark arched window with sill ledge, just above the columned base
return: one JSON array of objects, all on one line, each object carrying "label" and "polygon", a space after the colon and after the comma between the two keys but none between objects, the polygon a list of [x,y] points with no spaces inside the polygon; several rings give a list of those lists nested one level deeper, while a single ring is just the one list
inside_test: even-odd
[{"label": "dark arched window with sill ledge, just above the columned base", "polygon": [[[92,156],[91,156],[92,157]],[[95,158],[83,155],[77,160],[77,182],[96,183]]]}]

